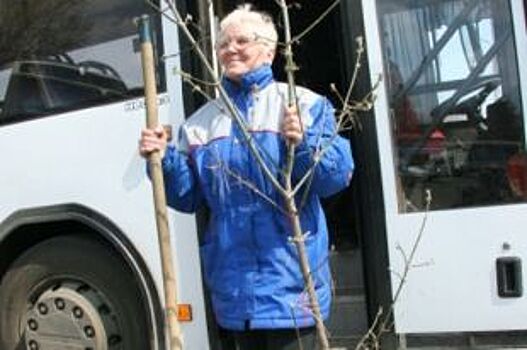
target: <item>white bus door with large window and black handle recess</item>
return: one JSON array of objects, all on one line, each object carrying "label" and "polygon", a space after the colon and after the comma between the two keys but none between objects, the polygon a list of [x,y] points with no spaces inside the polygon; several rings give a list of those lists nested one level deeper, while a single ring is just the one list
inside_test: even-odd
[{"label": "white bus door with large window and black handle recess", "polygon": [[523,1],[362,6],[396,333],[525,329]]}]

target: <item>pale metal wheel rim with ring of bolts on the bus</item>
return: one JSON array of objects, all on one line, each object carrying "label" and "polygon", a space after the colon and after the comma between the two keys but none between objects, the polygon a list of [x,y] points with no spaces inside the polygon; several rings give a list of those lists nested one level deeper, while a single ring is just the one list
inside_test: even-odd
[{"label": "pale metal wheel rim with ring of bolts on the bus", "polygon": [[76,281],[55,283],[34,295],[25,314],[30,350],[118,349],[122,332],[117,315],[94,288]]}]

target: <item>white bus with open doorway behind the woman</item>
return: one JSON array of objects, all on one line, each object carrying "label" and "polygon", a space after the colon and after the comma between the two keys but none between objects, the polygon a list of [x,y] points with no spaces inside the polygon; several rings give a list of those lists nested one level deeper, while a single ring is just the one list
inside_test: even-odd
[{"label": "white bus with open doorway behind the woman", "polygon": [[[214,1],[217,15],[237,3]],[[254,3],[278,17],[273,1]],[[296,33],[333,1],[300,3]],[[206,40],[207,1],[178,6]],[[2,350],[165,348],[151,187],[137,153],[145,109],[133,19],[145,13],[160,118],[176,131],[199,104],[178,72],[200,68],[171,21],[142,1],[0,0]],[[527,345],[524,2],[342,0],[296,47],[299,83],[338,105],[329,86],[346,87],[358,35],[366,57],[354,96],[383,79],[374,109],[345,135],[353,183],[324,203],[332,346],[353,349],[394,298],[385,349]],[[203,220],[169,214],[179,302],[192,309],[185,349],[220,349],[202,287]]]}]

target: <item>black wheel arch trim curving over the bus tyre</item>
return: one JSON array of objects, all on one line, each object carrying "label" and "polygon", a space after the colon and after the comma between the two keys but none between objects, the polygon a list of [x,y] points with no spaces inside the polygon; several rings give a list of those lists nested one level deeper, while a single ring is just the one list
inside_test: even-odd
[{"label": "black wheel arch trim curving over the bus tyre", "polygon": [[20,209],[9,215],[0,223],[0,281],[11,263],[27,249],[48,238],[72,234],[84,234],[104,243],[126,263],[143,296],[152,327],[153,349],[164,348],[163,309],[146,262],[125,233],[94,209],[68,203]]}]

